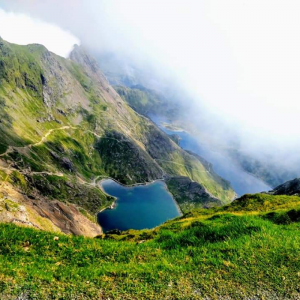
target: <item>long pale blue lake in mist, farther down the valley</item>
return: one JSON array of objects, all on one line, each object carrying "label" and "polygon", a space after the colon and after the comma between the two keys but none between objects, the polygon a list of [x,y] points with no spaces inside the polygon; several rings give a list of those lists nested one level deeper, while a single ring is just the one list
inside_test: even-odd
[{"label": "long pale blue lake in mist, farther down the valley", "polygon": [[214,171],[230,181],[235,192],[241,196],[247,193],[260,193],[272,190],[272,187],[264,183],[259,178],[245,172],[227,155],[211,149],[209,145],[199,142],[186,131],[173,131],[162,126],[162,123],[168,123],[165,118],[151,116],[151,120],[165,133],[176,134],[180,137],[179,145],[185,150],[190,150],[208,162],[213,164]]}]

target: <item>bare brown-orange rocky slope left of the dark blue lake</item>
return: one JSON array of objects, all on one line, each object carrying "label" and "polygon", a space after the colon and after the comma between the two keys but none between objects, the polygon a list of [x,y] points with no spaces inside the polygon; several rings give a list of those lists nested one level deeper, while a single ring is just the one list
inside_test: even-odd
[{"label": "bare brown-orange rocky slope left of the dark blue lake", "polygon": [[9,183],[1,186],[0,222],[90,237],[102,233],[101,228],[75,205],[49,200],[41,195],[38,199],[29,198]]}]

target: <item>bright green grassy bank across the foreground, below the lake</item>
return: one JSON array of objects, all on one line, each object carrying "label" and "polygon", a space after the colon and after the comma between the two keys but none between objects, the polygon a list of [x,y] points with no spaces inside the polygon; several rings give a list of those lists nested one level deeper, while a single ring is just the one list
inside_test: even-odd
[{"label": "bright green grassy bank across the foreground, below the lake", "polygon": [[1,225],[0,293],[37,299],[298,299],[299,221],[299,197],[246,195],[155,230],[103,240],[57,240]]}]

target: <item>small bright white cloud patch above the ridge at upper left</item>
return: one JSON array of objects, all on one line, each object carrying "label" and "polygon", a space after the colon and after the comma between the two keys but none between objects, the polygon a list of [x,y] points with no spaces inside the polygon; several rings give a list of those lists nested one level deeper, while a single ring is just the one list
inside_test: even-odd
[{"label": "small bright white cloud patch above the ridge at upper left", "polygon": [[0,36],[10,43],[19,45],[42,44],[63,57],[68,56],[74,44],[79,44],[74,35],[57,25],[2,9],[0,9]]}]

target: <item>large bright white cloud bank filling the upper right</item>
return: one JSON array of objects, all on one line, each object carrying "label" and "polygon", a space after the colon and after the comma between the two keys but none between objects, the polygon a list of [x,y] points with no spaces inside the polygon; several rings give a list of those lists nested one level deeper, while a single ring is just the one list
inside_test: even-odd
[{"label": "large bright white cloud bank filling the upper right", "polygon": [[172,70],[198,103],[232,120],[244,140],[298,139],[299,1],[113,2],[116,22],[136,46],[127,49]]}]

